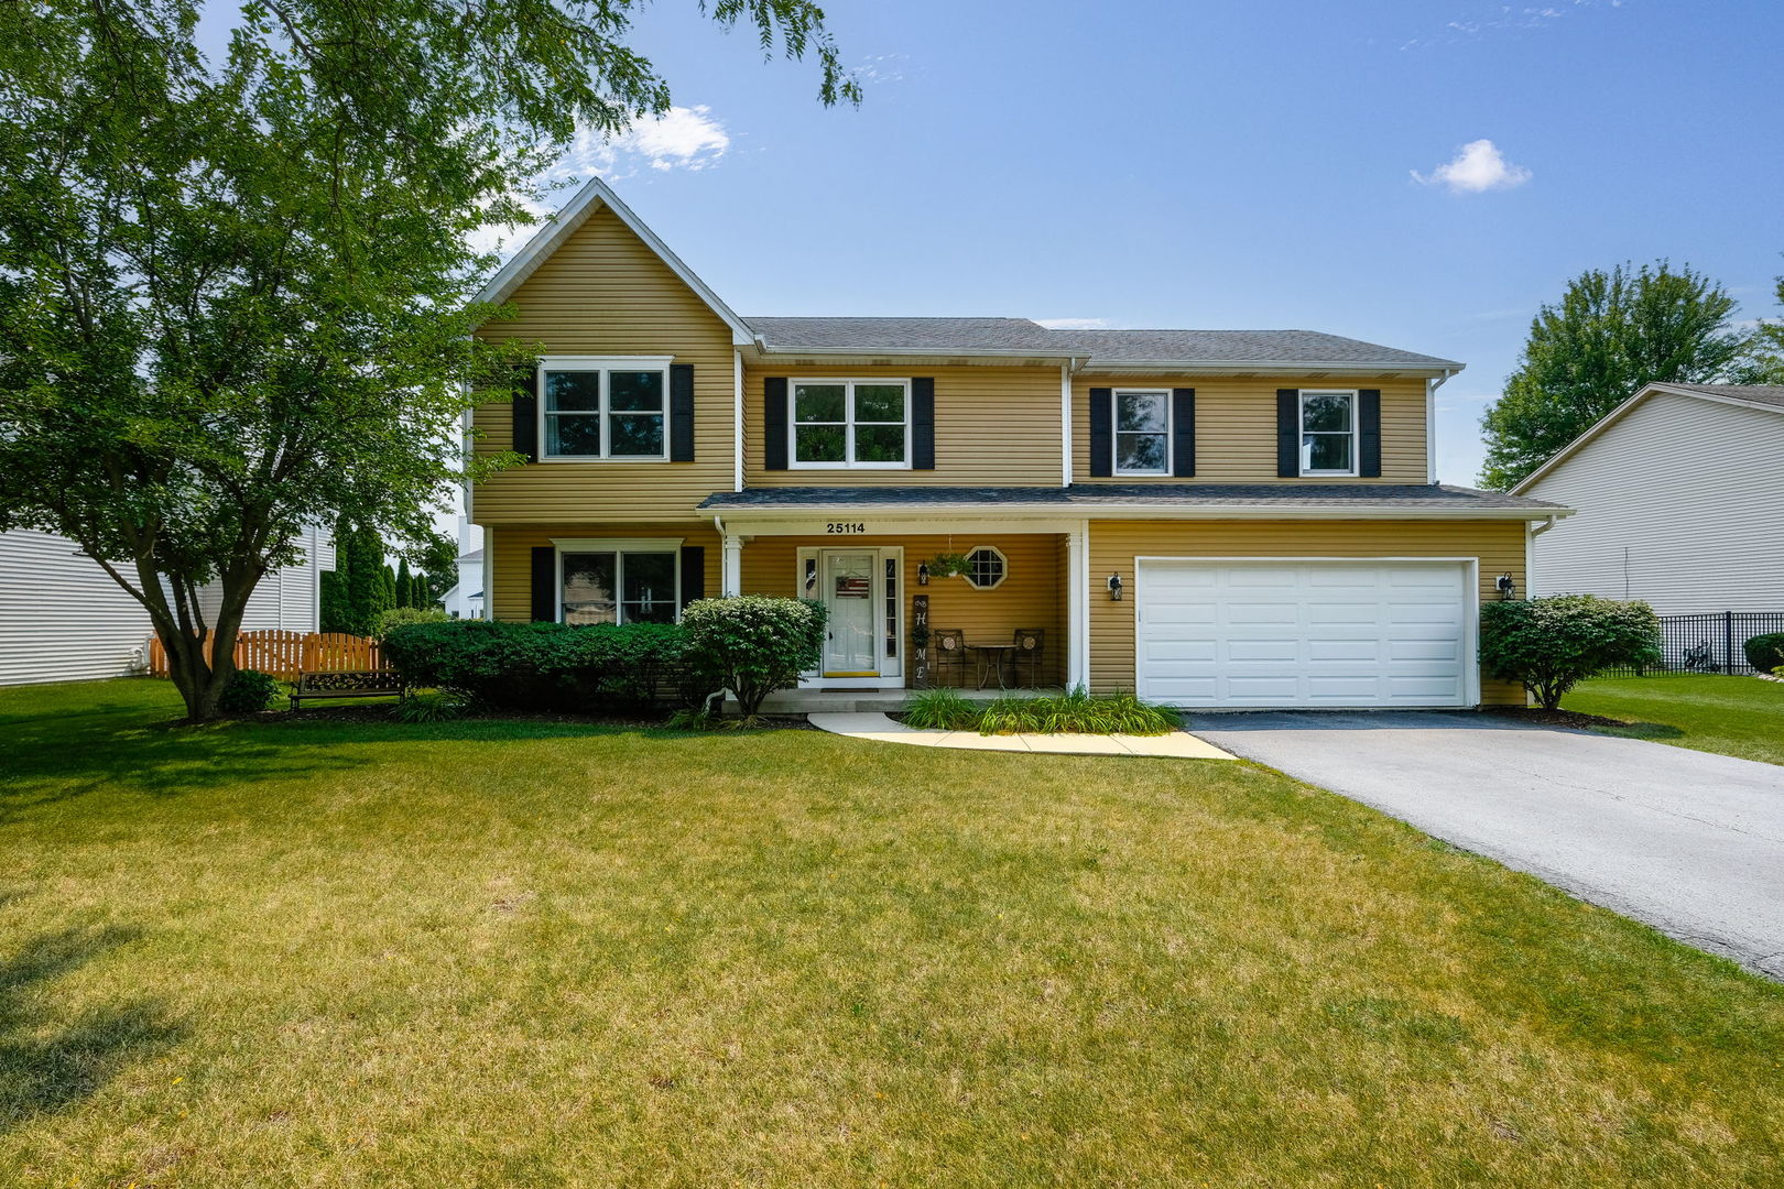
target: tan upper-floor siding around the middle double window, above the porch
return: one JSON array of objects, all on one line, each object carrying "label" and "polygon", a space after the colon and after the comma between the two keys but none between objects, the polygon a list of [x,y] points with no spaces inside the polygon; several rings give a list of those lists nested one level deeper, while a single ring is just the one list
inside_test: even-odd
[{"label": "tan upper-floor siding around the middle double window, above the porch", "polygon": [[[935,378],[935,471],[765,471],[762,381]],[[789,408],[789,417],[792,415]],[[856,367],[751,364],[744,373],[744,483],[747,487],[1058,487],[1060,367]]]}]

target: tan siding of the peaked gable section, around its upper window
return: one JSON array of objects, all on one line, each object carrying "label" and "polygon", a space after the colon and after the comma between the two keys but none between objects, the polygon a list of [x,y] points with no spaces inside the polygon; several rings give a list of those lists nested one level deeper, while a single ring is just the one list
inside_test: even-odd
[{"label": "tan siding of the peaked gable section, around its upper window", "polygon": [[[612,210],[598,210],[516,291],[519,316],[478,333],[544,355],[673,355],[694,365],[696,462],[541,462],[476,488],[478,524],[687,519],[735,487],[731,332]],[[478,451],[512,446],[512,408],[476,410]],[[665,419],[667,431],[667,419]]]}]

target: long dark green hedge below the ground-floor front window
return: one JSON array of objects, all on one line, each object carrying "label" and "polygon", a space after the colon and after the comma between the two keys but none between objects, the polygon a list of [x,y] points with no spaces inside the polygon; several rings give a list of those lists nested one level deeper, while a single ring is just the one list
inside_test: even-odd
[{"label": "long dark green hedge below the ground-floor front window", "polygon": [[384,654],[405,685],[507,709],[630,709],[705,692],[674,624],[419,622],[392,627]]}]

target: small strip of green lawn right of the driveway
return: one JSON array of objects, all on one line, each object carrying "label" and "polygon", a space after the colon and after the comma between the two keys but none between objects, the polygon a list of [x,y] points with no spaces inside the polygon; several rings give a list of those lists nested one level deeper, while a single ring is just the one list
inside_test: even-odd
[{"label": "small strip of green lawn right of the driveway", "polygon": [[1631,724],[1602,727],[1606,734],[1784,763],[1784,683],[1777,681],[1716,674],[1597,677],[1573,686],[1561,708]]}]

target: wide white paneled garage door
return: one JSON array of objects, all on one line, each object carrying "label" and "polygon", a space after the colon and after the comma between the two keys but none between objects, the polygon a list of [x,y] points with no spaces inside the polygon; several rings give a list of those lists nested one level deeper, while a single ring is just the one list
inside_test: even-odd
[{"label": "wide white paneled garage door", "polygon": [[1468,706],[1458,562],[1140,562],[1140,697],[1170,706]]}]

